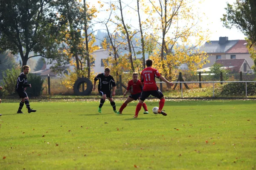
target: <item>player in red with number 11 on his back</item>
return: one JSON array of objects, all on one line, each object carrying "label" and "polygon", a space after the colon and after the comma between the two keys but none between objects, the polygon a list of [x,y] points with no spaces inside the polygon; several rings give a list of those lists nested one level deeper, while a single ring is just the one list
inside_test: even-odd
[{"label": "player in red with number 11 on his back", "polygon": [[137,104],[135,115],[133,118],[138,117],[138,114],[141,109],[141,106],[143,105],[143,102],[150,95],[160,99],[158,113],[162,114],[163,116],[167,116],[167,114],[162,111],[165,98],[163,96],[163,93],[157,87],[155,77],[161,79],[163,82],[166,82],[171,86],[173,85],[173,83],[167,81],[164,77],[162,77],[161,74],[157,71],[157,69],[152,68],[152,64],[153,64],[153,61],[151,59],[147,59],[146,60],[147,68],[143,69],[143,71],[140,74],[140,80],[141,82],[144,82],[144,86],[140,96],[140,101]]}]

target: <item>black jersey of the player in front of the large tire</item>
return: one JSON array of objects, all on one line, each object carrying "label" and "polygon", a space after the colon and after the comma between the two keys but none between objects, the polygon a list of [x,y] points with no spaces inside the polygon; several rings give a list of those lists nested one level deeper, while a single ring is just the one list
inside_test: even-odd
[{"label": "black jersey of the player in front of the large tire", "polygon": [[111,91],[111,85],[112,87],[116,86],[116,82],[114,78],[111,75],[105,76],[105,73],[98,74],[94,78],[94,81],[97,81],[97,80],[99,80],[99,85],[98,85],[99,91]]}]

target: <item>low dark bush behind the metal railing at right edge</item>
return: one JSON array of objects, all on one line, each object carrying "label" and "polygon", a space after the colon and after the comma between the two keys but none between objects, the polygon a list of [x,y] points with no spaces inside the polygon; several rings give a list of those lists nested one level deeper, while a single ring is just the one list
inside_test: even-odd
[{"label": "low dark bush behind the metal railing at right edge", "polygon": [[[228,83],[223,86],[221,96],[240,96],[245,95],[245,82],[243,83]],[[256,94],[256,83],[247,82],[247,95],[253,96]]]}]

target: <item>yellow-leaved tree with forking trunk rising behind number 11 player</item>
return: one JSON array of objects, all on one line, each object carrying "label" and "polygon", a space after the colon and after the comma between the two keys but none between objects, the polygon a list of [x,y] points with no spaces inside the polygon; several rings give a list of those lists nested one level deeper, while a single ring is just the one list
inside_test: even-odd
[{"label": "yellow-leaved tree with forking trunk rising behind number 11 player", "polygon": [[208,30],[198,25],[201,16],[196,14],[192,1],[149,0],[150,6],[145,9],[145,13],[151,15],[147,21],[154,39],[149,57],[154,60],[153,66],[168,79],[172,79],[177,66],[186,63],[189,69],[195,70],[202,67],[201,61],[207,58],[198,47],[208,39]]}]

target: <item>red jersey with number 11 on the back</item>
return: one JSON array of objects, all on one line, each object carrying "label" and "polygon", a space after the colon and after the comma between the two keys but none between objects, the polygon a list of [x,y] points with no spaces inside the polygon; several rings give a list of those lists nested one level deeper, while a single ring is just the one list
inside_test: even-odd
[{"label": "red jersey with number 11 on the back", "polygon": [[155,77],[159,78],[161,74],[155,68],[147,67],[140,74],[140,79],[144,82],[143,91],[157,90]]}]

